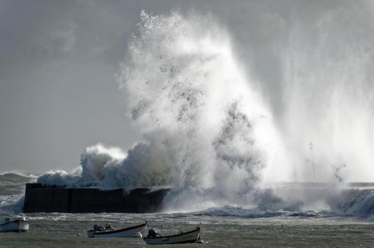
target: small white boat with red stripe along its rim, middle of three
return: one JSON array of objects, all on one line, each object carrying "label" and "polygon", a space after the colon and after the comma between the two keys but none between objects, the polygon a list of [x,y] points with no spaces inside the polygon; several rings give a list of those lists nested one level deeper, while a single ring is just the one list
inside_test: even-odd
[{"label": "small white boat with red stripe along its rim, middle of three", "polygon": [[94,229],[87,231],[88,238],[143,238],[142,233],[147,229],[147,222],[123,229],[114,229],[110,225],[98,226],[95,225]]}]

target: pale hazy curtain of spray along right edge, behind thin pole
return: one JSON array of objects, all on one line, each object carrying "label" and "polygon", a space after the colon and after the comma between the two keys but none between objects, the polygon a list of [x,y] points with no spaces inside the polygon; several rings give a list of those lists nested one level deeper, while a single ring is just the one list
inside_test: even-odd
[{"label": "pale hazy curtain of spray along right edge, behind thin pole", "polygon": [[335,180],[343,165],[340,177],[373,181],[373,5],[320,2],[294,18],[278,54],[284,109],[277,116],[293,180],[313,180],[312,166],[304,166],[313,141],[317,181]]}]

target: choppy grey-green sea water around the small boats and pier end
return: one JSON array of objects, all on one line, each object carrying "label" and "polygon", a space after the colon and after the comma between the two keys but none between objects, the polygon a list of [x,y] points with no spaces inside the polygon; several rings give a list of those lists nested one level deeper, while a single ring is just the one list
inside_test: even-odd
[{"label": "choppy grey-green sea water around the small boats and pier end", "polygon": [[[22,211],[24,183],[34,179],[35,176],[14,173],[0,175],[1,219]],[[361,186],[368,188],[368,184]],[[360,202],[363,200],[356,199]],[[201,238],[204,244],[172,247],[374,246],[374,218],[370,214],[353,216],[333,211],[258,211],[224,206],[184,213],[26,215],[31,222],[29,231],[0,233],[0,247],[146,247],[145,242],[137,238],[91,239],[85,233],[86,227],[90,229],[94,224],[105,225],[108,222],[115,228],[122,228],[144,221],[148,221],[151,228],[162,235],[175,234],[180,229],[187,231],[202,223]]]}]

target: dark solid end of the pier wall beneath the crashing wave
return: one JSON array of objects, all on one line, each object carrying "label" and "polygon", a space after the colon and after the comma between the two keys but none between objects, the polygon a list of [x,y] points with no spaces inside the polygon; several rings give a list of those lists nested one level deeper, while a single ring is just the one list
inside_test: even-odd
[{"label": "dark solid end of the pier wall beneath the crashing wave", "polygon": [[163,207],[170,189],[60,188],[26,183],[24,213],[154,213]]}]

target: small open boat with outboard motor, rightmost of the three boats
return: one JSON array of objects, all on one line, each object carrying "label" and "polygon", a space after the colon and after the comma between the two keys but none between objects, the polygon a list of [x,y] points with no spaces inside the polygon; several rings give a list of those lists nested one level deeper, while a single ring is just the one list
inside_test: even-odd
[{"label": "small open boat with outboard motor, rightmost of the three boats", "polygon": [[203,243],[200,239],[201,223],[192,231],[187,233],[179,232],[176,235],[161,236],[157,231],[151,229],[148,231],[148,236],[143,238],[147,245],[171,245],[171,244],[186,244],[186,243]]}]

